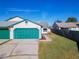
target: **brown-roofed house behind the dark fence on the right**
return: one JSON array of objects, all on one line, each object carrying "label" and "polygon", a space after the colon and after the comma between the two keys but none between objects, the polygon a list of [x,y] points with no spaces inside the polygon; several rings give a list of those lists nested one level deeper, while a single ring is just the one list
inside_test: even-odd
[{"label": "brown-roofed house behind the dark fence on the right", "polygon": [[71,31],[79,31],[79,22],[62,22],[62,23],[54,23],[54,30],[71,30]]}]

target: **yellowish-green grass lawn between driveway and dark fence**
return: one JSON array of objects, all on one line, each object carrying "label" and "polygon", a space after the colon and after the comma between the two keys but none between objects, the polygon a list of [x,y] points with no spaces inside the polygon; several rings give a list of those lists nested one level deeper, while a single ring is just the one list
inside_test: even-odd
[{"label": "yellowish-green grass lawn between driveway and dark fence", "polygon": [[76,42],[50,33],[51,42],[40,42],[39,59],[79,59]]}]

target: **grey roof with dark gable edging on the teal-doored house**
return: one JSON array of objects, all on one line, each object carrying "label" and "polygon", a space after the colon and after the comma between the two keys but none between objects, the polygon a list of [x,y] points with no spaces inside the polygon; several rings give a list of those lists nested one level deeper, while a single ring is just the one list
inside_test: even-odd
[{"label": "grey roof with dark gable edging on the teal-doored house", "polygon": [[[16,17],[18,17],[18,16],[16,16]],[[16,18],[16,17],[13,17],[13,18]],[[33,21],[31,21],[31,20],[27,20],[27,19],[23,19],[23,18],[21,18],[21,17],[19,17],[19,18],[23,19],[23,21],[9,21],[10,19],[13,19],[13,18],[9,18],[9,19],[6,20],[6,21],[0,21],[0,28],[5,28],[5,27],[9,27],[9,26],[14,26],[14,25],[16,25],[16,24],[18,24],[18,23],[21,23],[21,22],[23,22],[23,21],[25,21],[26,23],[27,23],[28,21],[30,21],[30,22],[32,22],[32,23],[34,23],[34,24],[37,24],[37,25],[41,26],[40,24],[38,24],[38,23],[36,23],[36,22],[33,22]],[[41,27],[42,27],[42,26],[41,26]]]}]

